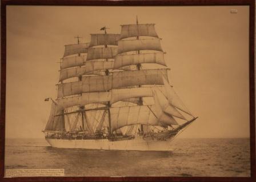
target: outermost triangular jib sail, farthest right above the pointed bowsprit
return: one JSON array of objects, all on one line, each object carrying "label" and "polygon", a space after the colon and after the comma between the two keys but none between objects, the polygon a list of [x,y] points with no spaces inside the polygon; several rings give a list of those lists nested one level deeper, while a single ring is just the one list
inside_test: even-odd
[{"label": "outermost triangular jib sail, farthest right above the pointed bowsprit", "polygon": [[191,114],[191,112],[189,110],[187,110],[187,108],[184,106],[184,104],[181,102],[181,100],[178,98],[178,95],[175,94],[173,87],[170,86],[170,84],[168,83],[168,81],[165,78],[163,79],[163,83],[165,85],[165,91],[167,93],[167,99],[169,101],[169,103],[171,105],[173,105],[174,107],[178,108],[179,110],[186,112],[186,114],[189,114],[191,116],[193,116]]}]

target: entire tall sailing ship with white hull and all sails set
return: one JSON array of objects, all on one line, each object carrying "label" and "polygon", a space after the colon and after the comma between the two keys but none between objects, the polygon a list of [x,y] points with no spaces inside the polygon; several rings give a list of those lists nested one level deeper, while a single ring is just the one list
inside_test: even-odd
[{"label": "entire tall sailing ship with white hull and all sails set", "polygon": [[[170,85],[155,24],[66,45],[45,139],[52,147],[168,151],[195,118]],[[187,119],[189,118],[189,119]]]}]

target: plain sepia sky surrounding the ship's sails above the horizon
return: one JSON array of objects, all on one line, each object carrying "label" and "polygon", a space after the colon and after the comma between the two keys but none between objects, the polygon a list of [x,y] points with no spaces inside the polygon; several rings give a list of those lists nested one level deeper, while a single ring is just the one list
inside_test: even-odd
[{"label": "plain sepia sky surrounding the ship's sails above the horizon", "polygon": [[155,23],[170,83],[199,117],[178,137],[249,137],[248,6],[7,6],[6,137],[44,137],[64,45],[136,15]]}]

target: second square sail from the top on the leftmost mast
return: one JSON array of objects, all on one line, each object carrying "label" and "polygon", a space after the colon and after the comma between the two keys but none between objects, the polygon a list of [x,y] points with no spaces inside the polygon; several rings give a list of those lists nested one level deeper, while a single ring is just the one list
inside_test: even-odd
[{"label": "second square sail from the top on the leftmost mast", "polygon": [[61,68],[65,69],[65,68],[70,68],[75,66],[82,66],[83,62],[85,61],[86,61],[85,55],[63,58]]}]

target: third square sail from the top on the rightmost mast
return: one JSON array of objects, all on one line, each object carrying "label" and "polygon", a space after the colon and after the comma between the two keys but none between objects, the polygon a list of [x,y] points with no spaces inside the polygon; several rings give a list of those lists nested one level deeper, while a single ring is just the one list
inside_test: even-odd
[{"label": "third square sail from the top on the rightmost mast", "polygon": [[146,54],[117,55],[115,56],[114,69],[142,63],[156,63],[166,66],[163,54],[163,52],[154,52]]}]

